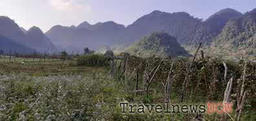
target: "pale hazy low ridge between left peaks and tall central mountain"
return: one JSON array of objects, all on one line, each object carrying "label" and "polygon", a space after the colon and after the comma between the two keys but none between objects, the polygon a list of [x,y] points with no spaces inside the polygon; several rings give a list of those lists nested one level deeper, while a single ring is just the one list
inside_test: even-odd
[{"label": "pale hazy low ridge between left peaks and tall central mountain", "polygon": [[81,23],[79,26],[54,26],[46,35],[52,42],[63,50],[82,51],[85,47],[97,50],[102,46],[112,46],[121,43],[125,26],[113,21],[89,24]]}]

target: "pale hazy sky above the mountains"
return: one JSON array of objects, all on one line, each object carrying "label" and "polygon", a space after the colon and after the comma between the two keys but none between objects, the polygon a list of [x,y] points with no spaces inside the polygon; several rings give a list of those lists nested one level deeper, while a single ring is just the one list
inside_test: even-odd
[{"label": "pale hazy sky above the mountains", "polygon": [[153,10],[184,11],[207,19],[223,8],[244,13],[256,8],[256,0],[0,0],[0,15],[26,29],[38,26],[43,32],[56,24],[77,26],[83,21],[127,25]]}]

